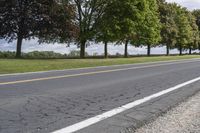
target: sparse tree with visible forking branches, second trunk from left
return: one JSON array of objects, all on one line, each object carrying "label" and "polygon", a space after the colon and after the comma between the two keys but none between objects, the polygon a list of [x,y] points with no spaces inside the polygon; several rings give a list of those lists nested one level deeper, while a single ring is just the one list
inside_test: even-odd
[{"label": "sparse tree with visible forking branches, second trunk from left", "polygon": [[85,58],[87,41],[94,38],[95,26],[103,14],[106,2],[106,0],[70,0],[75,7],[75,22],[79,29],[76,42],[80,47],[81,58]]}]

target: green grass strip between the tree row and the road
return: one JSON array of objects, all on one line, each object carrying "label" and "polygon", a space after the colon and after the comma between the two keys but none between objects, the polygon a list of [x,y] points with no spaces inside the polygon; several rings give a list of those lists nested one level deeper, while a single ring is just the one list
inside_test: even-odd
[{"label": "green grass strip between the tree row and the road", "polygon": [[134,63],[192,59],[192,58],[200,58],[200,55],[134,57],[134,58],[116,58],[116,59],[44,59],[44,60],[0,59],[0,74],[62,70],[62,69],[107,66],[107,65],[117,65],[117,64],[131,64],[131,63],[134,64]]}]

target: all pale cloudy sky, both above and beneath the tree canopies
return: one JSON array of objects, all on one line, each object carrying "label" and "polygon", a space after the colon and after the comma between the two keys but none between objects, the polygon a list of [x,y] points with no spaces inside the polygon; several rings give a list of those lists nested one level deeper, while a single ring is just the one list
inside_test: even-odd
[{"label": "all pale cloudy sky, both above and beneath the tree canopies", "polygon": [[[189,10],[193,9],[200,9],[200,0],[166,0],[167,2],[176,2],[184,7],[187,7]],[[79,50],[77,46],[72,45],[70,47],[66,47],[67,44],[38,44],[37,40],[30,40],[30,41],[23,41],[22,51],[23,52],[31,52],[31,51],[54,51],[58,53],[69,53],[72,50]],[[15,51],[16,49],[16,41],[12,43],[7,43],[4,40],[0,40],[0,51]],[[92,55],[98,53],[99,55],[103,54],[103,45],[90,45],[86,48],[86,51]],[[110,54],[120,53],[123,54],[124,47],[122,45],[113,46],[110,45],[108,47]],[[146,54],[146,47],[142,48],[135,48],[130,46],[129,47],[130,54]],[[153,54],[164,54],[165,48],[164,47],[157,47],[152,49]],[[177,50],[171,51],[171,53],[178,53]]]}]

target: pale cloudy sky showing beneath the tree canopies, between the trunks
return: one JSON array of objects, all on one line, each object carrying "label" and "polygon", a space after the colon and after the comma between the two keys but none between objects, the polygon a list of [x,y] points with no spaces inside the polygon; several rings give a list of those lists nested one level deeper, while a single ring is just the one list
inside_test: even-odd
[{"label": "pale cloudy sky showing beneath the tree canopies, between the trunks", "polygon": [[[31,51],[54,51],[57,53],[68,54],[72,50],[79,50],[76,45],[71,45],[70,47],[66,47],[67,44],[39,44],[37,40],[23,41],[22,51],[23,52],[31,52]],[[0,40],[0,51],[15,51],[16,50],[16,41],[12,43],[7,43],[4,40]],[[86,48],[88,54],[93,55],[97,53],[98,55],[103,55],[104,53],[104,45],[102,43],[94,44],[91,43],[90,46]],[[122,54],[124,53],[123,45],[108,45],[109,54],[115,55],[116,53]],[[139,55],[146,54],[147,48],[140,47],[136,48],[133,46],[129,46],[129,54]],[[156,47],[152,48],[152,54],[165,54],[165,47]],[[177,50],[171,50],[171,53],[178,53]]]}]

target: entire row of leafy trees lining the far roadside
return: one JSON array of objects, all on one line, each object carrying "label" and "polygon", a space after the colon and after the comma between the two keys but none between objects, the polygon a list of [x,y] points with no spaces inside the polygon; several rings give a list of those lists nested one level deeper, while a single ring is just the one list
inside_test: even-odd
[{"label": "entire row of leafy trees lining the far roadside", "polygon": [[0,39],[17,40],[17,57],[23,39],[39,42],[75,42],[81,58],[89,41],[107,45],[128,44],[169,50],[200,49],[200,10],[188,11],[164,0],[2,0]]}]

